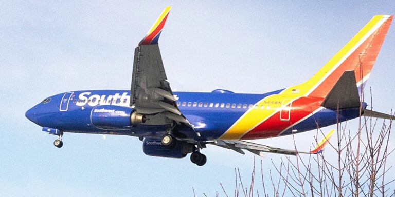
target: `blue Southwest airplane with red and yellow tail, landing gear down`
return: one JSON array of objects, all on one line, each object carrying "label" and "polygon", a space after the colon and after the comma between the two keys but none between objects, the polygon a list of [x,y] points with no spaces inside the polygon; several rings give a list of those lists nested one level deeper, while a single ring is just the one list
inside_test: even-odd
[{"label": "blue Southwest airplane with red and yellow tail, landing gear down", "polygon": [[150,156],[183,158],[203,166],[206,145],[297,155],[316,154],[333,130],[314,150],[300,152],[245,140],[301,133],[369,115],[393,115],[366,109],[363,88],[383,44],[393,16],[374,16],[308,81],[263,94],[173,92],[158,47],[171,7],[166,7],[134,53],[130,90],[83,90],[52,95],[25,116],[63,146],[64,133],[136,136]]}]

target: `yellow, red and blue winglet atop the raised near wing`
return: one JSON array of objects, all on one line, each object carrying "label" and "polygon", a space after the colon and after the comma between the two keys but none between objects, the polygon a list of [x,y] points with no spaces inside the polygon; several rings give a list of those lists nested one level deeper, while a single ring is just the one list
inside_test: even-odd
[{"label": "yellow, red and blue winglet atop the raised near wing", "polygon": [[165,26],[167,16],[170,13],[171,6],[168,6],[163,10],[160,14],[159,18],[156,19],[156,22],[148,31],[147,35],[142,38],[138,46],[140,45],[155,45],[158,44],[160,33],[162,32],[163,27]]}]

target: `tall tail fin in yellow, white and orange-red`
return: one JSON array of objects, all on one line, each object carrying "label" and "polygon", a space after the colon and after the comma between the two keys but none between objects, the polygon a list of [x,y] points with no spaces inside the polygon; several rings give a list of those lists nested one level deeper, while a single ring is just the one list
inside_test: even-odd
[{"label": "tall tail fin in yellow, white and orange-red", "polygon": [[284,94],[326,97],[345,71],[353,70],[361,92],[383,44],[393,16],[376,15],[310,80],[290,87]]}]

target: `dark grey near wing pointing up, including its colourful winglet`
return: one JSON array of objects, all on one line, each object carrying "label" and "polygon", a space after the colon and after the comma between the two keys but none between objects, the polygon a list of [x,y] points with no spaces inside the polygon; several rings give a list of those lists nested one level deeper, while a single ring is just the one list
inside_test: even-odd
[{"label": "dark grey near wing pointing up, including its colourful winglet", "polygon": [[189,133],[184,134],[192,137],[196,133],[176,105],[158,46],[170,8],[165,8],[135,48],[130,106],[146,116],[146,125],[183,126],[183,130],[189,130]]}]

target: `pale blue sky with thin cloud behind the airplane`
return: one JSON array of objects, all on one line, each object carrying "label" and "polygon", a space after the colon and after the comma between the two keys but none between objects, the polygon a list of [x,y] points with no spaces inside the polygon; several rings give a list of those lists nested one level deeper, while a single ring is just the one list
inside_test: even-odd
[{"label": "pale blue sky with thin cloud behind the airplane", "polygon": [[[146,156],[133,137],[70,133],[58,149],[55,136],[24,116],[60,92],[129,89],[134,48],[168,5],[159,43],[172,88],[243,93],[307,80],[374,15],[395,11],[391,1],[2,1],[0,196],[192,196],[192,186],[214,196],[220,182],[232,193],[235,167],[249,182],[252,154],[209,146],[207,164],[197,167],[188,157]],[[394,51],[391,27],[367,84],[375,110],[395,107]],[[308,150],[314,135],[296,135],[298,147]],[[293,148],[289,136],[258,142]],[[266,154],[264,172],[281,157]]]}]

